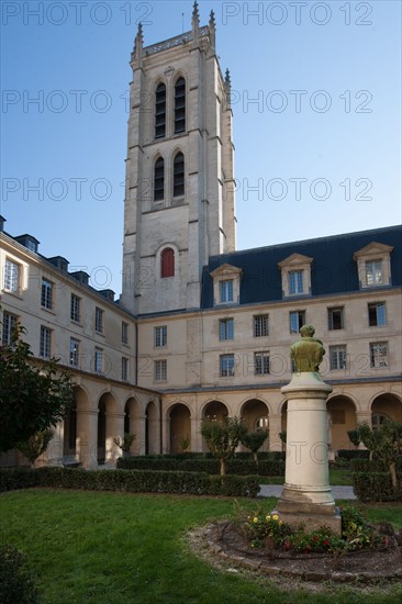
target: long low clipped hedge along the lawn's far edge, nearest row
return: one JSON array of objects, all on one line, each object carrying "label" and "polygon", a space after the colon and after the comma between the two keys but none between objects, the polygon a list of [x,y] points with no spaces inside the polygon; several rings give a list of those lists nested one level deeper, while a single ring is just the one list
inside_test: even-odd
[{"label": "long low clipped hedge along the lawn's far edge, nearest row", "polygon": [[30,486],[244,497],[255,497],[259,492],[257,476],[215,477],[202,472],[92,471],[76,468],[12,468],[0,470],[0,492]]}]

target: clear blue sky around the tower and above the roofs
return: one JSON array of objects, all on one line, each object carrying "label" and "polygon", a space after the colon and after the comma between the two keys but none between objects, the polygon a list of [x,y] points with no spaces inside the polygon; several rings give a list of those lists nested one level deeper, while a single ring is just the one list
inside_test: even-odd
[{"label": "clear blue sky around the tower and above the roofs", "polygon": [[[238,249],[400,223],[401,3],[204,1],[201,24],[211,9],[233,86]],[[119,294],[133,40],[138,20],[145,45],[190,30],[192,2],[1,10],[5,230]]]}]

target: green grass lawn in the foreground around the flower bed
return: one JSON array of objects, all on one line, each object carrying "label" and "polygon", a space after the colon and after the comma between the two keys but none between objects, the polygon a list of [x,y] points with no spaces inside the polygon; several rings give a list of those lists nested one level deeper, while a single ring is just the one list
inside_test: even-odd
[{"label": "green grass lawn in the foreground around the flower bed", "polygon": [[[256,508],[261,501],[243,500]],[[267,511],[275,500],[265,500]],[[400,602],[402,588],[371,595],[337,588],[286,593],[268,579],[216,570],[187,550],[186,533],[228,517],[233,500],[26,490],[0,496],[4,541],[24,551],[52,604],[335,604]],[[371,512],[370,512],[371,514]],[[400,507],[375,508],[402,528]],[[330,588],[328,588],[330,589]]]}]

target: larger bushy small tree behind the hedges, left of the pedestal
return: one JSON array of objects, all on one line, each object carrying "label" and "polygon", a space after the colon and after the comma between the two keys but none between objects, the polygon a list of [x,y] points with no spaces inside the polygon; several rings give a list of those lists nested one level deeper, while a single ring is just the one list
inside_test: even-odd
[{"label": "larger bushy small tree behind the hedges, left of the pedestal", "polygon": [[221,462],[221,476],[226,473],[226,460],[234,456],[235,450],[246,434],[247,427],[239,417],[227,417],[222,422],[204,420],[201,434],[208,448]]}]

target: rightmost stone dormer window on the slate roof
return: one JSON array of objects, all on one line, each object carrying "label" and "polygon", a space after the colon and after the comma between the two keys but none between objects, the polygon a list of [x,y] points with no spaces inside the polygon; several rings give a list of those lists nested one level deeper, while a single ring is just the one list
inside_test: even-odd
[{"label": "rightmost stone dormer window on the slate roof", "polygon": [[371,242],[354,254],[357,261],[359,287],[380,288],[391,284],[391,251],[390,245]]}]

